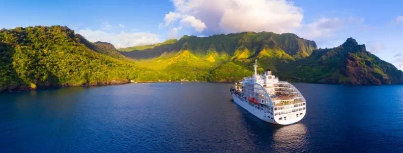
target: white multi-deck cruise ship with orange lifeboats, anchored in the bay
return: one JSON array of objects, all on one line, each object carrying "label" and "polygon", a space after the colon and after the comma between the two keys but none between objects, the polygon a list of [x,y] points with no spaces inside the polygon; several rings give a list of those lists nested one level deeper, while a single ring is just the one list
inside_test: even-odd
[{"label": "white multi-deck cruise ship with orange lifeboats, anchored in the bay", "polygon": [[253,65],[255,74],[235,83],[230,89],[235,103],[259,119],[279,125],[290,125],[305,116],[306,101],[292,84],[279,81],[271,71],[258,75],[257,60]]}]

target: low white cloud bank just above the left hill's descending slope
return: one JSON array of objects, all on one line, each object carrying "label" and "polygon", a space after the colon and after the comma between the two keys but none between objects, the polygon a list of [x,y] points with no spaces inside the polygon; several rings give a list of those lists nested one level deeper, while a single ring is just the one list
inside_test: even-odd
[{"label": "low white cloud bank just above the left hill's descending slope", "polygon": [[107,32],[105,30],[81,29],[77,33],[91,42],[109,42],[115,48],[126,48],[138,45],[155,44],[161,42],[157,34],[149,32]]}]

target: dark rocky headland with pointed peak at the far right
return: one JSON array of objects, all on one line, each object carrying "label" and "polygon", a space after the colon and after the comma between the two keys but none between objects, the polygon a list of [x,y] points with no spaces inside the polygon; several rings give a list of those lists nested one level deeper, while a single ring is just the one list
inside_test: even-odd
[{"label": "dark rocky headland with pointed peak at the far right", "polygon": [[314,51],[308,58],[287,66],[284,74],[302,82],[380,85],[403,83],[403,73],[366,51],[355,39],[333,49]]}]

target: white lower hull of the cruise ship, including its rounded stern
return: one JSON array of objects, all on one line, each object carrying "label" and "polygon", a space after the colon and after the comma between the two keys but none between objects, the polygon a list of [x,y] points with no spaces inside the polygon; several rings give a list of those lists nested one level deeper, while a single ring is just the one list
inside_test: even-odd
[{"label": "white lower hull of the cruise ship, including its rounded stern", "polygon": [[[306,110],[301,110],[301,111],[292,112],[292,113],[288,113],[288,114],[273,116],[268,112],[264,113],[264,110],[259,109],[259,107],[256,107],[254,104],[251,104],[247,100],[243,100],[242,98],[239,98],[238,96],[236,96],[236,94],[231,94],[231,95],[232,95],[232,99],[235,103],[237,103],[239,106],[241,106],[242,108],[246,109],[248,112],[250,112],[253,115],[255,115],[256,117],[258,117],[259,119],[261,119],[265,122],[268,122],[268,123],[278,124],[278,125],[290,125],[290,124],[294,124],[294,123],[300,121],[305,116]],[[298,114],[298,115],[296,115],[296,114]],[[299,115],[299,114],[301,114],[301,115]],[[284,119],[279,120],[279,118],[284,118],[285,116],[287,117],[287,120],[284,120]]]}]

